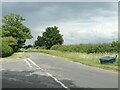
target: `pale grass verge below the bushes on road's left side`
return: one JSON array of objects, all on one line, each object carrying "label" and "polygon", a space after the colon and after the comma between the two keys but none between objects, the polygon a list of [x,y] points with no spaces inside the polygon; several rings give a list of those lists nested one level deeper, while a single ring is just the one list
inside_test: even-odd
[{"label": "pale grass verge below the bushes on road's left side", "polygon": [[14,53],[12,54],[11,56],[9,57],[4,57],[4,58],[0,58],[0,60],[12,60],[12,59],[17,59],[17,58],[28,58],[29,55],[26,54],[26,53],[23,53],[23,52],[17,52],[17,53]]}]

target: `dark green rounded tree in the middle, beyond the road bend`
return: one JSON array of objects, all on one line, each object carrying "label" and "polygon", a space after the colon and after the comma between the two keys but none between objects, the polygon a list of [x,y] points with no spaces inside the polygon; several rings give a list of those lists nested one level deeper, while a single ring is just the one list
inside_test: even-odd
[{"label": "dark green rounded tree in the middle, beyond the road bend", "polygon": [[47,27],[42,36],[38,36],[35,45],[45,46],[47,49],[50,49],[53,45],[63,44],[62,36],[63,35],[60,34],[58,27]]}]

